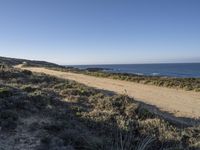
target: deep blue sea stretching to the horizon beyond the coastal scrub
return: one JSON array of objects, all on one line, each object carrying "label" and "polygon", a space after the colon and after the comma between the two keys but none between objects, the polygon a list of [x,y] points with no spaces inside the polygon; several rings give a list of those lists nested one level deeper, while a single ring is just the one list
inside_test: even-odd
[{"label": "deep blue sea stretching to the horizon beyond the coastal scrub", "polygon": [[200,63],[179,64],[123,64],[123,65],[75,65],[79,69],[105,68],[104,71],[115,73],[131,73],[138,75],[169,77],[200,77]]}]

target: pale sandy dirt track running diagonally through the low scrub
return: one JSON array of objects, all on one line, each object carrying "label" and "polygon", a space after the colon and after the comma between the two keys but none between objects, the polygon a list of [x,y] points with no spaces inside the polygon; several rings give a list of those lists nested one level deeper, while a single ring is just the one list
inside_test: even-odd
[{"label": "pale sandy dirt track running diagonally through the low scrub", "polygon": [[[18,68],[21,68],[18,66]],[[128,94],[136,100],[154,105],[176,117],[200,118],[200,93],[144,85],[128,81],[98,78],[71,72],[60,72],[45,68],[29,67],[27,70],[53,75],[63,79],[75,80],[87,86]]]}]

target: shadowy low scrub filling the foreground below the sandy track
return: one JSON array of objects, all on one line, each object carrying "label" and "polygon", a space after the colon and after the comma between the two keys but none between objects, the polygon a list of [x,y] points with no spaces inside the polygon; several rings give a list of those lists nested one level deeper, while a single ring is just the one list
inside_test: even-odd
[{"label": "shadowy low scrub filling the foreground below the sandy track", "polygon": [[0,149],[200,148],[200,126],[166,121],[126,95],[1,66]]}]

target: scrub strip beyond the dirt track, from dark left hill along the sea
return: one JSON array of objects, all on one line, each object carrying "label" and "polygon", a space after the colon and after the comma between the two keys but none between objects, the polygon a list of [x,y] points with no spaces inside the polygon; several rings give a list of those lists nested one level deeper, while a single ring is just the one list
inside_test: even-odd
[{"label": "scrub strip beyond the dirt track, from dark left hill along the sea", "polygon": [[[78,69],[74,67],[65,67],[45,61],[31,61],[25,59],[13,59],[0,57],[0,63],[14,66],[22,64],[24,67],[45,67],[52,70],[59,70],[63,72],[81,73],[90,76],[111,78],[116,80],[124,80],[142,84],[156,85],[160,87],[184,89],[186,91],[200,92],[200,78],[176,78],[165,76],[146,76],[128,73],[112,73],[107,68],[87,68]],[[1,68],[1,66],[0,66]],[[106,71],[104,71],[106,70]]]}]

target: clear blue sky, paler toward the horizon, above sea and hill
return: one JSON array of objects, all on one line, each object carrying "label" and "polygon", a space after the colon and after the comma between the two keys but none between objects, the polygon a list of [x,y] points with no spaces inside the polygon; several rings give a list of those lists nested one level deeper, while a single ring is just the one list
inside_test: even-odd
[{"label": "clear blue sky, paler toward the horizon, above sea and hill", "polygon": [[0,55],[60,64],[200,62],[200,0],[1,0]]}]

